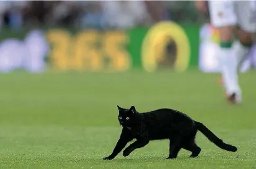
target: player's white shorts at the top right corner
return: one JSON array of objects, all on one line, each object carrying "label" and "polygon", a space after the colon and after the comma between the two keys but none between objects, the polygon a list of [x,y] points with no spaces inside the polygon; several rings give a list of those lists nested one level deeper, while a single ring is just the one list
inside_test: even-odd
[{"label": "player's white shorts at the top right corner", "polygon": [[256,32],[256,1],[209,1],[213,27],[239,26],[242,30]]}]

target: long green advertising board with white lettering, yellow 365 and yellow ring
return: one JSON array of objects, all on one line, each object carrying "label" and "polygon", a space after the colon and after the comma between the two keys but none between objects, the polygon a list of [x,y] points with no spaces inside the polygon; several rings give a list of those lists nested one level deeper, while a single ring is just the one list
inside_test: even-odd
[{"label": "long green advertising board with white lettering, yellow 365 and yellow ring", "polygon": [[126,72],[198,67],[200,25],[160,22],[130,30],[45,30],[0,33],[0,72]]}]

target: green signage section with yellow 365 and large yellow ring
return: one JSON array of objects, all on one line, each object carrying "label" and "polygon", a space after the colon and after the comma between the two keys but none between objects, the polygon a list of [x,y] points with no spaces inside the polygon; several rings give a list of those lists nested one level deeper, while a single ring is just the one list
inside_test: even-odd
[{"label": "green signage section with yellow 365 and large yellow ring", "polygon": [[49,46],[46,65],[59,72],[126,72],[133,68],[183,72],[198,64],[199,30],[200,25],[174,22],[130,30],[48,29],[43,32]]}]

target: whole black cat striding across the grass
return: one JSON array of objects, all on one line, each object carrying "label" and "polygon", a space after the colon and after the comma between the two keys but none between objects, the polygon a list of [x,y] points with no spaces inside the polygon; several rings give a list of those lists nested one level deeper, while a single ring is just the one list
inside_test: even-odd
[{"label": "whole black cat striding across the grass", "polygon": [[236,152],[237,148],[226,144],[215,136],[205,125],[196,122],[182,112],[172,109],[158,109],[152,112],[138,113],[134,106],[130,109],[118,107],[118,120],[123,130],[113,152],[104,160],[114,159],[126,144],[136,139],[123,151],[123,156],[129,155],[133,150],[146,146],[151,140],[170,139],[169,157],[175,159],[180,149],[192,152],[190,157],[200,154],[200,147],[195,143],[196,132],[199,130],[216,146],[221,149]]}]

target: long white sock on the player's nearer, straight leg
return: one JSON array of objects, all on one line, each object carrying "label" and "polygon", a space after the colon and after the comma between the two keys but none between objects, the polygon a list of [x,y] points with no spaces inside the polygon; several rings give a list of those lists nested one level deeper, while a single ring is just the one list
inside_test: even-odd
[{"label": "long white sock on the player's nearer, straight leg", "polygon": [[228,95],[232,93],[240,95],[241,89],[238,84],[237,58],[234,55],[233,48],[219,47],[219,60],[221,62],[221,73],[226,87],[226,93]]}]

